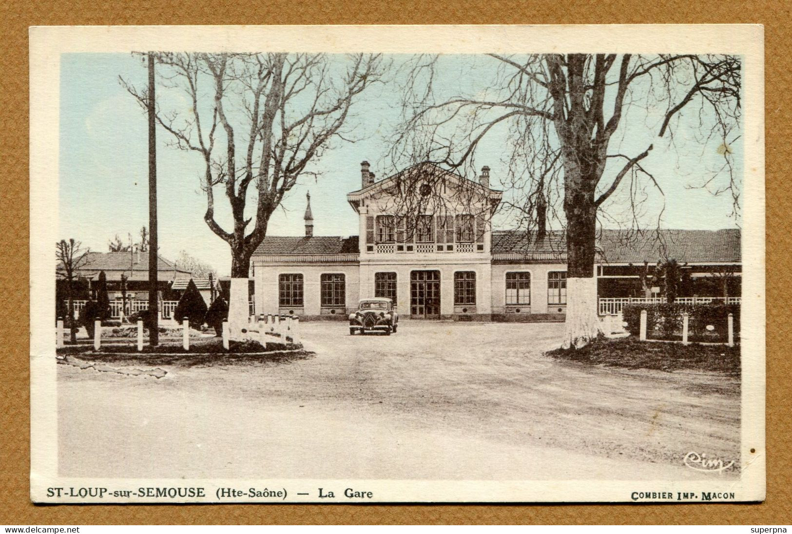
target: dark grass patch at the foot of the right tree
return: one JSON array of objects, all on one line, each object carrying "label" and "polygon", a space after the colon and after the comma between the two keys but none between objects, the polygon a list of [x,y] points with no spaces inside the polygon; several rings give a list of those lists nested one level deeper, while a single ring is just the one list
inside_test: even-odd
[{"label": "dark grass patch at the foot of the right tree", "polygon": [[740,377],[740,348],[725,345],[653,343],[630,338],[600,338],[581,349],[555,349],[546,353],[559,360],[603,364],[627,369],[699,371]]}]

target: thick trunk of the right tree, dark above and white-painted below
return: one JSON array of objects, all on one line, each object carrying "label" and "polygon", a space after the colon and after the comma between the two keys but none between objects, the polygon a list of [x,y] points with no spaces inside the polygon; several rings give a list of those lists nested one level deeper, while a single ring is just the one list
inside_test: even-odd
[{"label": "thick trunk of the right tree, dark above and white-painted below", "polygon": [[590,181],[567,176],[564,199],[566,227],[566,325],[562,348],[580,348],[602,333],[597,315],[594,276],[596,204]]}]

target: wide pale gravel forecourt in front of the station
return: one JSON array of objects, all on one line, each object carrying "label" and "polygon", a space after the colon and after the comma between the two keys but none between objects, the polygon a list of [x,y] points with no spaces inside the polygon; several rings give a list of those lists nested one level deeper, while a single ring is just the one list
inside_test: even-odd
[{"label": "wide pale gravel forecourt in front of the station", "polygon": [[[740,383],[553,360],[560,323],[306,322],[314,354],[59,365],[59,475],[117,478],[713,479],[740,458]],[[136,366],[139,367],[139,366]],[[151,365],[155,367],[155,365]],[[139,367],[139,368],[145,368]]]}]

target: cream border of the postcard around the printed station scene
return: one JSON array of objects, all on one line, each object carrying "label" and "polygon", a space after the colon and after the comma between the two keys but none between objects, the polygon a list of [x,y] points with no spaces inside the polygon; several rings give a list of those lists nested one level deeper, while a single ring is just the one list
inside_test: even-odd
[{"label": "cream border of the postcard around the printed station scene", "polygon": [[[54,324],[55,254],[58,227],[59,59],[67,52],[141,50],[382,51],[387,53],[481,52],[691,52],[744,57],[744,227],[741,478],[723,490],[733,502],[765,495],[765,270],[764,270],[764,32],[760,25],[447,25],[447,26],[82,26],[30,29],[30,366],[31,498],[48,497],[52,486],[204,486],[217,502],[218,487],[345,487],[375,492],[375,502],[631,502],[634,490],[714,491],[716,481],[673,480],[137,480],[63,479],[57,475],[57,406]],[[254,51],[254,50],[250,50]],[[754,449],[755,452],[750,452]],[[662,501],[664,499],[650,499]],[[178,501],[178,499],[177,499]],[[280,498],[267,502],[284,502]],[[285,502],[315,502],[296,496]],[[359,502],[347,498],[322,502]],[[71,499],[70,502],[74,502]],[[85,498],[80,502],[174,502],[173,499]],[[222,502],[249,502],[223,499]],[[261,500],[259,500],[261,502]],[[645,501],[644,501],[645,502]]]}]

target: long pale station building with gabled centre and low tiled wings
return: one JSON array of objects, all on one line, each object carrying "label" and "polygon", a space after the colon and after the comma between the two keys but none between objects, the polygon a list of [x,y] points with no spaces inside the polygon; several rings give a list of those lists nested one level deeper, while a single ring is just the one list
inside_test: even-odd
[{"label": "long pale station building with gabled centre and low tiled wings", "polygon": [[[309,196],[305,235],[268,236],[253,254],[255,310],[346,318],[358,299],[379,296],[409,318],[563,320],[565,236],[493,231],[501,196],[489,187],[488,167],[478,181],[428,163],[375,181],[363,162],[361,188],[347,195],[360,235],[315,236]],[[740,296],[736,229],[600,230],[597,254],[601,314],[630,301],[660,302],[652,280],[668,259],[683,271],[680,298]]]}]

